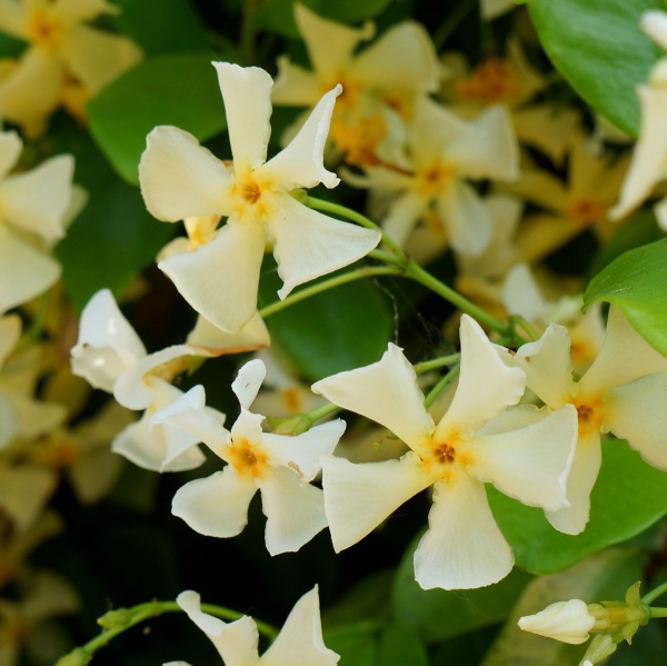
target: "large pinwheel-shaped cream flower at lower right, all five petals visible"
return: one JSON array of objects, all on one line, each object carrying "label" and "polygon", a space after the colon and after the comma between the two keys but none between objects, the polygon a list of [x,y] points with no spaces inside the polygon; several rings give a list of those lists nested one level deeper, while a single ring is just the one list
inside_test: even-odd
[{"label": "large pinwheel-shaped cream flower at lower right, all five petals visible", "polygon": [[547,414],[506,410],[521,398],[525,375],[501,367],[479,325],[466,315],[460,339],[458,388],[437,426],[412,366],[394,345],[377,364],[312,387],[386,426],[411,449],[400,460],[364,465],[325,458],[325,506],[335,549],[356,544],[404,501],[434,486],[429,530],[415,553],[416,579],[427,589],[482,587],[507,576],[514,557],[484,484],[529,506],[566,506],[576,440],[571,406]]}]

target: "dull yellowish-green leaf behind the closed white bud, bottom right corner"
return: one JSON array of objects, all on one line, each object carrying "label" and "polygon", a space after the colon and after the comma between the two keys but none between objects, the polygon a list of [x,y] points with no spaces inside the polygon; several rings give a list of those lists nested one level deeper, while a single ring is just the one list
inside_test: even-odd
[{"label": "dull yellowish-green leaf behind the closed white bud, bottom right corner", "polygon": [[641,556],[633,548],[614,548],[590,557],[568,571],[537,578],[527,588],[481,666],[577,666],[585,645],[567,645],[521,632],[519,617],[555,602],[583,599],[587,604],[623,599],[641,578]]}]

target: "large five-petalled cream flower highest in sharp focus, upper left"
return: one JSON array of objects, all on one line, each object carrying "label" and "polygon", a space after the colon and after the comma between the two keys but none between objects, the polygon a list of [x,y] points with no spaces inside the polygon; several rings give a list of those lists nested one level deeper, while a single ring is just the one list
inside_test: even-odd
[{"label": "large five-petalled cream flower highest in sharp focus, upper left", "polygon": [[[285,298],[297,285],[366,256],[379,232],[341,222],[299,203],[290,191],[338,183],[322,165],[331,111],[341,88],[327,92],[290,145],[266,161],[272,80],[258,68],[213,62],[225,100],[233,161],[227,166],[176,127],[148,136],[139,163],[148,210],[163,221],[227,217],[192,251],[159,262],[183,298],[225,331],[255,315],[267,240],[273,242]],[[195,241],[195,238],[190,236]]]}]

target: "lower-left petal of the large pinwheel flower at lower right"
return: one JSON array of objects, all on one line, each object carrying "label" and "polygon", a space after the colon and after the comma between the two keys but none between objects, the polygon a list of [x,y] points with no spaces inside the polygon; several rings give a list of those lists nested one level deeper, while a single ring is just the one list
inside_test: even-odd
[{"label": "lower-left petal of the large pinwheel flower at lower right", "polygon": [[336,553],[361,540],[431,483],[411,451],[400,460],[360,465],[334,456],[323,458],[325,509]]}]

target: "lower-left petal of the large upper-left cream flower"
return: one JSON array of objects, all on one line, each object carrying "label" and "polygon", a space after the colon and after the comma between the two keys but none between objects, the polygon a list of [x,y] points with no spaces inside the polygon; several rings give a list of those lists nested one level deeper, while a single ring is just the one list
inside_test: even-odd
[{"label": "lower-left petal of the large upper-left cream flower", "polygon": [[162,259],[181,296],[211,324],[238,332],[257,311],[265,233],[260,225],[229,221],[210,242]]}]

